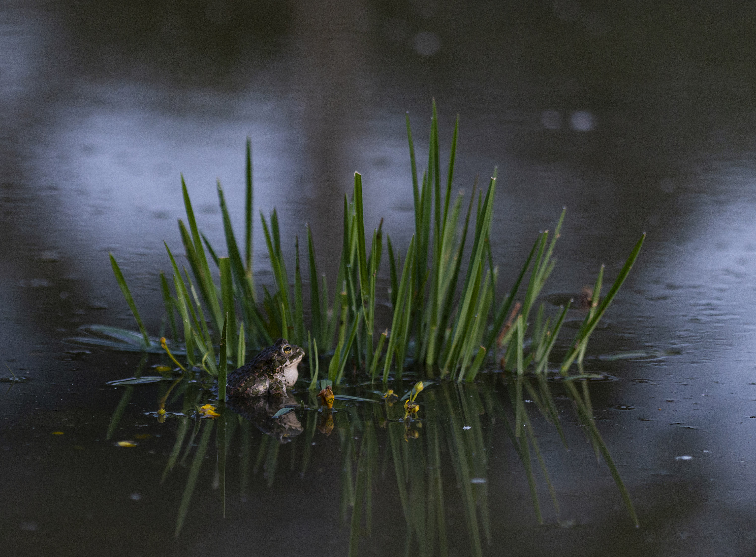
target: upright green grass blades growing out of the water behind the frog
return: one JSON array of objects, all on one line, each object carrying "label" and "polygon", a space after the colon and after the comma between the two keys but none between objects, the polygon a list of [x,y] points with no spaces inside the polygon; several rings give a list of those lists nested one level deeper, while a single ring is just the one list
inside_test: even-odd
[{"label": "upright green grass blades growing out of the water behind the frog", "polygon": [[[476,179],[469,200],[464,202],[463,191],[454,194],[459,118],[454,125],[445,177],[441,172],[435,103],[428,164],[422,177],[418,176],[408,115],[406,125],[415,228],[404,257],[400,250],[395,250],[389,235],[385,238],[391,283],[390,328],[383,332],[376,330],[376,299],[380,297],[376,281],[383,271],[383,220],[371,234],[366,233],[363,184],[358,173],[355,173],[351,195],[343,199],[343,242],[335,288],[329,288],[326,275],[318,273],[310,226],[307,226],[307,264],[304,266],[300,265],[299,238],[295,240],[293,287],[290,285],[277,212],[273,209],[267,217],[260,214],[273,284],[262,285],[262,291],[256,291],[252,267],[252,152],[247,140],[243,256],[221,184],[218,183],[216,189],[225,232],[225,257],[218,256],[218,251],[198,229],[191,198],[181,178],[186,223],[179,220],[178,228],[188,269],[178,266],[166,244],[172,279],[166,279],[163,273],[160,275],[174,353],[183,352],[190,365],[217,377],[222,366],[243,365],[246,347],[268,346],[277,337],[286,337],[299,346],[318,346],[321,355],[330,355],[324,374],[336,385],[342,382],[348,367],[367,375],[373,382],[379,379],[386,382],[390,377],[401,379],[408,361],[423,365],[428,376],[469,382],[476,379],[485,362],[497,360],[497,354],[502,355],[501,363],[505,368],[518,374],[528,369],[545,374],[570,308],[568,303],[557,315],[546,316],[544,305],[537,307],[556,264],[553,251],[565,211],[553,234],[546,231],[538,235],[516,281],[503,300],[497,300],[498,269],[494,266],[490,246],[497,186],[495,169],[484,189],[478,189]],[[603,282],[603,267],[600,269],[592,297],[596,303],[592,303],[562,359],[562,374],[569,374],[575,363],[581,367],[590,336],[627,278],[644,237],[637,242],[609,294],[598,303]],[[141,333],[138,341],[129,338],[129,346],[152,351],[156,349],[155,340],[147,334],[112,254],[110,260]],[[215,269],[211,268],[211,263],[215,264]],[[305,270],[308,289],[304,286]],[[524,292],[521,291],[523,284]],[[536,316],[531,322],[533,312]],[[224,328],[226,356],[224,362],[220,362],[215,347]],[[524,346],[530,348],[525,351]],[[312,374],[316,368],[317,358],[310,359]],[[314,377],[312,379],[314,384]]]}]

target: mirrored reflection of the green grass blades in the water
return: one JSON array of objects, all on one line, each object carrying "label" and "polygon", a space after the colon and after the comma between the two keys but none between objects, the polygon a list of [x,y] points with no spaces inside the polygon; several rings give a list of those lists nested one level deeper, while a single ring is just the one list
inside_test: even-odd
[{"label": "mirrored reflection of the green grass blades in the water", "polygon": [[[172,419],[163,423],[175,427],[175,444],[160,479],[162,484],[172,473],[180,473],[179,468],[188,469],[178,503],[175,536],[181,534],[187,513],[191,512],[200,471],[209,463],[215,466],[212,485],[220,494],[217,512],[225,515],[227,472],[234,476],[238,496],[246,501],[249,486],[260,481],[256,477],[261,472],[268,489],[274,488],[280,466],[298,470],[300,478],[310,479],[313,472],[309,465],[314,451],[329,450],[324,449],[327,445],[323,443],[314,443],[316,437],[336,435],[340,451],[334,453],[331,448],[327,458],[341,460],[339,515],[342,526],[349,528],[349,555],[361,554],[361,540],[373,532],[373,497],[385,496],[387,491],[395,491],[401,503],[407,525],[407,552],[447,554],[445,509],[451,505],[463,510],[470,551],[473,555],[482,555],[483,547],[491,543],[491,512],[507,504],[501,500],[489,501],[488,482],[500,481],[489,477],[494,451],[501,454],[513,449],[519,457],[531,493],[535,521],[551,522],[553,519],[547,519],[546,515],[560,521],[557,493],[534,432],[534,420],[546,420],[555,426],[566,448],[565,435],[559,422],[554,420],[556,411],[550,410],[550,405],[556,408],[553,389],[569,398],[581,429],[596,451],[596,458],[603,458],[609,466],[631,519],[637,522],[627,490],[593,422],[587,381],[548,383],[543,377],[524,374],[484,374],[480,379],[463,384],[426,383],[426,388],[417,394],[420,411],[416,419],[405,419],[401,401],[385,402],[376,392],[363,390],[361,386],[334,389],[337,397],[349,391],[375,399],[375,403],[337,398],[333,410],[329,410],[320,406],[316,391],[306,387],[277,402],[265,399],[222,405],[208,385],[182,380],[172,389],[166,403],[169,410],[166,415]],[[575,386],[575,383],[581,385]],[[299,383],[305,384],[305,381]],[[128,400],[129,389],[134,388],[125,387],[124,399]],[[164,399],[169,383],[162,383],[160,388],[160,399]],[[365,388],[370,389],[370,386]],[[409,390],[406,386],[402,389],[401,384],[395,385],[395,389],[398,392]],[[546,402],[547,399],[552,402]],[[197,411],[208,402],[215,405],[219,417],[203,417],[203,413]],[[272,417],[287,405],[297,408]],[[116,408],[110,429],[117,426],[123,406]],[[494,445],[497,428],[507,433],[511,447],[500,442]],[[256,439],[256,430],[263,433],[259,439]],[[234,462],[232,455],[237,454],[238,461]],[[449,482],[451,471],[454,483]],[[553,515],[544,512],[541,506],[544,496],[550,501],[547,506]]]}]

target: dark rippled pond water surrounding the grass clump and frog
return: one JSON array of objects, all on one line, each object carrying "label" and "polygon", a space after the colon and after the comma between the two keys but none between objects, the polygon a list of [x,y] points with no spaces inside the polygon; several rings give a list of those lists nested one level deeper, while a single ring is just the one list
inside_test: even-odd
[{"label": "dark rippled pond water surrounding the grass clump and frog", "polygon": [[[475,532],[482,555],[752,555],[754,25],[752,3],[724,1],[0,5],[0,338],[4,361],[29,377],[0,383],[3,555],[346,555],[355,531],[359,555],[401,555],[405,543],[441,555],[442,538],[448,555],[475,555]],[[550,293],[579,292],[601,263],[613,279],[648,232],[609,327],[589,346],[603,356],[588,362],[617,378],[590,392],[638,529],[564,400],[570,451],[531,411],[560,509],[557,521],[537,471],[538,525],[502,419],[511,411],[501,374],[428,389],[424,427],[406,442],[401,423],[383,423],[391,409],[369,403],[336,412],[330,435],[319,415],[296,411],[303,431],[283,445],[237,414],[204,420],[197,447],[184,458],[184,445],[161,483],[177,434],[183,427],[188,440],[194,427],[144,414],[168,384],[105,386],[134,375],[139,355],[62,342],[87,323],[133,328],[108,251],[147,327],[160,328],[162,240],[181,251],[178,173],[200,227],[222,245],[215,177],[240,225],[247,134],[256,211],[277,207],[292,258],[293,236],[311,223],[333,277],[354,171],[367,226],[385,217],[406,245],[403,114],[425,143],[434,96],[442,149],[460,114],[455,186],[469,190],[477,171],[498,165],[491,240],[501,285],[562,205]],[[257,226],[258,284],[271,283]],[[613,355],[629,350],[646,355]],[[150,356],[144,373],[158,362]],[[114,445],[123,440],[138,445]],[[370,481],[364,461],[350,460],[358,454],[374,460]],[[360,493],[372,497],[370,531],[364,515],[350,528]]]}]

